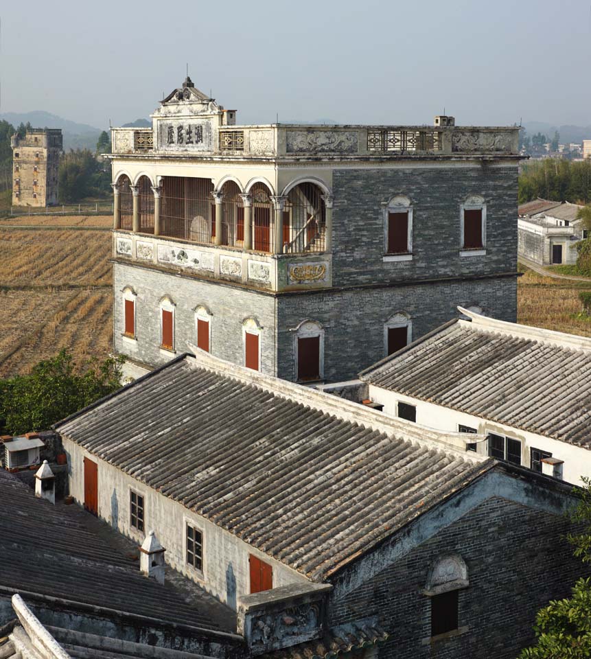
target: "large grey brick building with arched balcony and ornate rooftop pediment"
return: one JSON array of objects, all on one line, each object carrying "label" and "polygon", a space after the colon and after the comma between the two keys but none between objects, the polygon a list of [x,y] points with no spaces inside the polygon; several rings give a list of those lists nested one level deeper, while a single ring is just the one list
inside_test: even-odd
[{"label": "large grey brick building with arched balcony and ornate rooftop pediment", "polygon": [[342,380],[458,305],[515,321],[518,128],[235,116],[187,78],[152,128],[112,130],[115,349],[131,364],[198,347]]}]

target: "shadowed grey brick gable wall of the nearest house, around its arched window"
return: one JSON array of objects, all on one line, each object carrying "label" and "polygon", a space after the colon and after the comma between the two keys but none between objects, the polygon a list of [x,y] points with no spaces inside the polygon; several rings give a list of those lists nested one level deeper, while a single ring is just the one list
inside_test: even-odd
[{"label": "shadowed grey brick gable wall of the nearest house, around its arched window", "polygon": [[[331,625],[378,616],[392,634],[380,659],[513,659],[533,642],[537,610],[550,599],[568,597],[575,579],[588,570],[562,540],[566,518],[551,516],[502,498],[491,498],[363,583],[329,610]],[[470,586],[459,593],[463,634],[436,643],[430,638],[430,566],[458,553]]]}]

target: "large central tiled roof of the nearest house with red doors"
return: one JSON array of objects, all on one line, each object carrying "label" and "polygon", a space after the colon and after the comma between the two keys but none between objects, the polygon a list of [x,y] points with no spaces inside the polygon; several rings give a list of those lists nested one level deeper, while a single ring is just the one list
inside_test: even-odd
[{"label": "large central tiled roof of the nearest house with red doors", "polygon": [[275,395],[277,382],[363,414],[232,368],[244,377],[185,356],[58,431],[317,581],[494,465]]}]

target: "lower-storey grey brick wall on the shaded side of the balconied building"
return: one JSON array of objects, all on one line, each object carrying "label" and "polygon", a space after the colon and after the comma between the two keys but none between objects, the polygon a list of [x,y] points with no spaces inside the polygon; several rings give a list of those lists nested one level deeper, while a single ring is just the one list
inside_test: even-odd
[{"label": "lower-storey grey brick wall on the shaded side of the balconied building", "polygon": [[516,285],[515,277],[503,277],[281,296],[277,375],[294,380],[290,329],[305,319],[319,321],[325,329],[325,379],[347,380],[384,357],[384,323],[396,312],[410,316],[413,340],[456,318],[458,305],[478,305],[489,316],[514,322]]}]

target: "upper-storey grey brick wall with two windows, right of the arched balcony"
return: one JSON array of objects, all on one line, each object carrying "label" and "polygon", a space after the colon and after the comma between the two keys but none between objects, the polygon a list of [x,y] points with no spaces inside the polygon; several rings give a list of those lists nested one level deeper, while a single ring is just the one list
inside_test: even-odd
[{"label": "upper-storey grey brick wall with two windows, right of the arched balcony", "polygon": [[[516,165],[335,170],[334,286],[514,271],[517,267]],[[384,263],[382,202],[413,204],[413,260]],[[487,254],[459,256],[460,205],[487,204]]]}]

